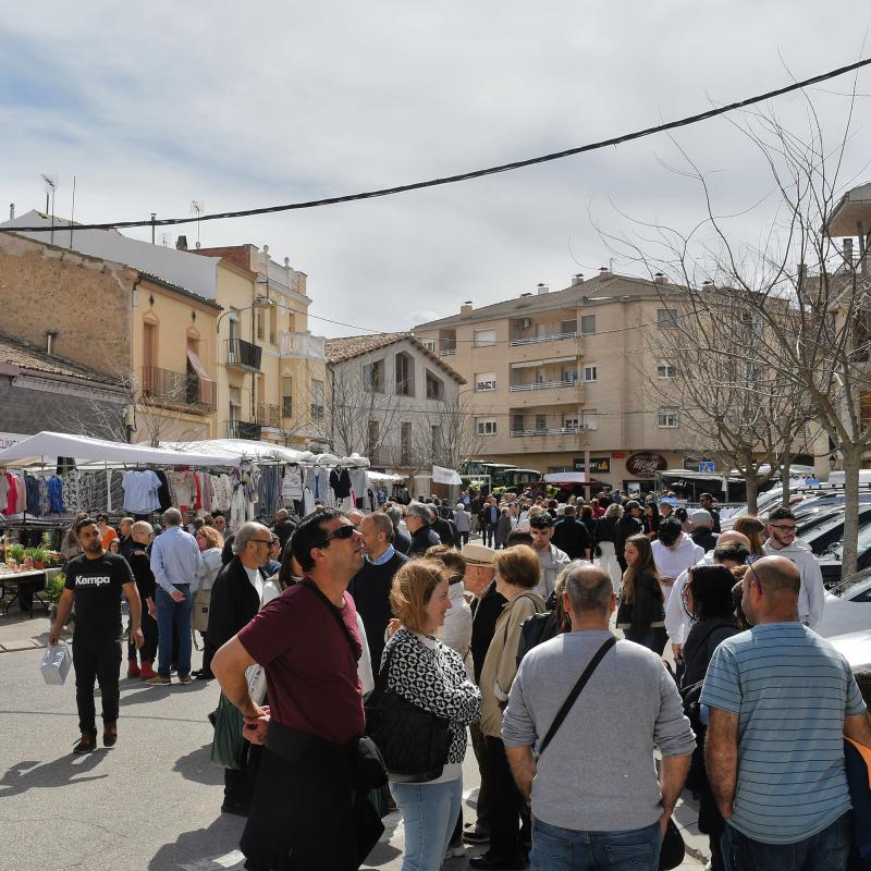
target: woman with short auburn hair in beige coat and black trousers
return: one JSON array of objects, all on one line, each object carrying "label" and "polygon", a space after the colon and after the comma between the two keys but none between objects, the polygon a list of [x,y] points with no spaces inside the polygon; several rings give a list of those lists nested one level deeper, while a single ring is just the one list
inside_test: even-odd
[{"label": "woman with short auburn hair in beige coat and black trousers", "polygon": [[490,849],[470,868],[525,868],[520,848],[523,800],[514,784],[502,744],[502,712],[517,674],[517,645],[527,617],[544,611],[533,592],[540,564],[526,544],[499,551],[494,560],[496,590],[508,600],[496,621],[481,671],[481,732],[487,741],[487,785],[490,798]]}]

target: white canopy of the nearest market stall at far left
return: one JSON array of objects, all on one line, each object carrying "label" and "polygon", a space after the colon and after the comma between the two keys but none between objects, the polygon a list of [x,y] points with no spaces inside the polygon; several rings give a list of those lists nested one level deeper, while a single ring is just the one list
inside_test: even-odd
[{"label": "white canopy of the nearest market stall at far left", "polygon": [[126,444],[87,436],[68,436],[61,432],[38,432],[5,451],[0,451],[0,466],[38,466],[58,457],[72,457],[78,462],[115,464],[154,464],[159,466],[238,466],[242,456],[236,454],[199,453],[151,447],[145,444]]}]

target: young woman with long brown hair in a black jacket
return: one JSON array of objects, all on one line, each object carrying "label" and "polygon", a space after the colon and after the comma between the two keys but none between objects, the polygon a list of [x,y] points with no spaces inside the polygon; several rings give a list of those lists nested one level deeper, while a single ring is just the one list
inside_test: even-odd
[{"label": "young woman with long brown hair in a black jacket", "polygon": [[650,539],[626,539],[626,571],[617,608],[617,628],[629,640],[662,655],[665,649],[665,604]]}]

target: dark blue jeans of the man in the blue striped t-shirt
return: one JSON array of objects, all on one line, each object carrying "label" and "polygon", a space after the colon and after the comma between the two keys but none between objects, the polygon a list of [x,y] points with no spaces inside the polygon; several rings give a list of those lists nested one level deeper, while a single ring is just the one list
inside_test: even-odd
[{"label": "dark blue jeans of the man in the blue striped t-shirt", "polygon": [[728,823],[725,838],[733,871],[844,871],[852,842],[852,811],[794,844],[763,844]]}]

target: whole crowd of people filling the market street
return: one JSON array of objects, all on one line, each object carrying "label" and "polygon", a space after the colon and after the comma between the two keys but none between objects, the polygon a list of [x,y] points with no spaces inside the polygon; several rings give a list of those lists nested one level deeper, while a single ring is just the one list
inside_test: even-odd
[{"label": "whole crowd of people filling the market street", "polygon": [[655,869],[685,786],[713,871],[868,867],[871,674],[813,631],[822,578],[788,508],[721,531],[707,494],[463,493],[226,538],[217,520],[78,518],[50,640],[74,603],[74,752],[96,747],[95,679],[118,739],[121,593],[128,677],[218,678],[216,727],[243,724],[221,810],[247,820],[246,868],[358,868],[396,807],[407,871],[464,844],[487,845],[477,869]]}]

